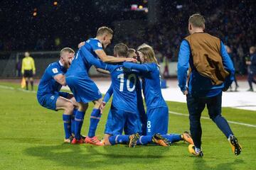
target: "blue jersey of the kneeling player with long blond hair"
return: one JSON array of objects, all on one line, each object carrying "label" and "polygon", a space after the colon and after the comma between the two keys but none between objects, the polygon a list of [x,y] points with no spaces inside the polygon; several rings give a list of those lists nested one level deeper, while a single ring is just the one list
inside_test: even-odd
[{"label": "blue jersey of the kneeling player with long blond hair", "polygon": [[166,106],[161,94],[159,67],[156,63],[134,64],[124,62],[124,67],[137,69],[142,73],[142,88],[148,110]]}]

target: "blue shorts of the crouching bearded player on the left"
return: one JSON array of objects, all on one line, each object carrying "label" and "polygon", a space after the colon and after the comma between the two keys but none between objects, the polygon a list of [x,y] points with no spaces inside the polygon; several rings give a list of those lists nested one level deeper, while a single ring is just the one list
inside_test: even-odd
[{"label": "blue shorts of the crouching bearded player on the left", "polygon": [[63,98],[68,98],[69,95],[70,95],[69,93],[58,91],[53,94],[45,94],[42,96],[37,96],[37,99],[38,99],[38,103],[40,103],[41,106],[45,108],[49,108],[53,111],[57,111],[56,101],[58,97],[62,96]]}]

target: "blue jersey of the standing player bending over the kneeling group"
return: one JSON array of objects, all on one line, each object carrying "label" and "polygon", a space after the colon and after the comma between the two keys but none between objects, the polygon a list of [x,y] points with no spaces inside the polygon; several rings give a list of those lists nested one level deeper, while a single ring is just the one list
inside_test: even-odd
[{"label": "blue jersey of the standing player bending over the kneeling group", "polygon": [[[67,77],[70,76],[78,76],[78,77],[87,77],[88,71],[90,67],[92,67],[92,63],[87,60],[88,56],[82,55],[81,49],[85,48],[87,52],[90,53],[90,57],[94,57],[95,59],[98,59],[95,50],[103,50],[102,44],[100,43],[97,38],[90,38],[85,42],[85,45],[83,45],[80,50],[75,54],[75,58],[68,69],[68,72],[66,74]],[[88,53],[87,53],[88,55]]]}]

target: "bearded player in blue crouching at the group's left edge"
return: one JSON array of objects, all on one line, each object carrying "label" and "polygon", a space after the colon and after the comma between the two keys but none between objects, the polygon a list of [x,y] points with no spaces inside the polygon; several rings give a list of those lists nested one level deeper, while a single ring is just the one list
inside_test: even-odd
[{"label": "bearded player in blue crouching at the group's left edge", "polygon": [[62,86],[66,86],[65,73],[75,55],[74,50],[65,47],[60,50],[60,60],[49,64],[38,85],[38,103],[53,111],[64,110],[63,122],[65,131],[64,142],[71,142],[71,120],[78,103],[72,94],[60,92]]}]

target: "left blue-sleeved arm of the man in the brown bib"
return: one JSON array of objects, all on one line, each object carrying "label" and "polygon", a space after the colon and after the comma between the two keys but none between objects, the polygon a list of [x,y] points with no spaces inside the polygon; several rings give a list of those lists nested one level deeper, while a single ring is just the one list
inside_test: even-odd
[{"label": "left blue-sleeved arm of the man in the brown bib", "polygon": [[178,86],[180,87],[183,94],[187,94],[186,88],[186,79],[187,79],[187,72],[189,67],[189,57],[191,55],[191,50],[186,40],[181,42],[181,47],[178,52]]}]

